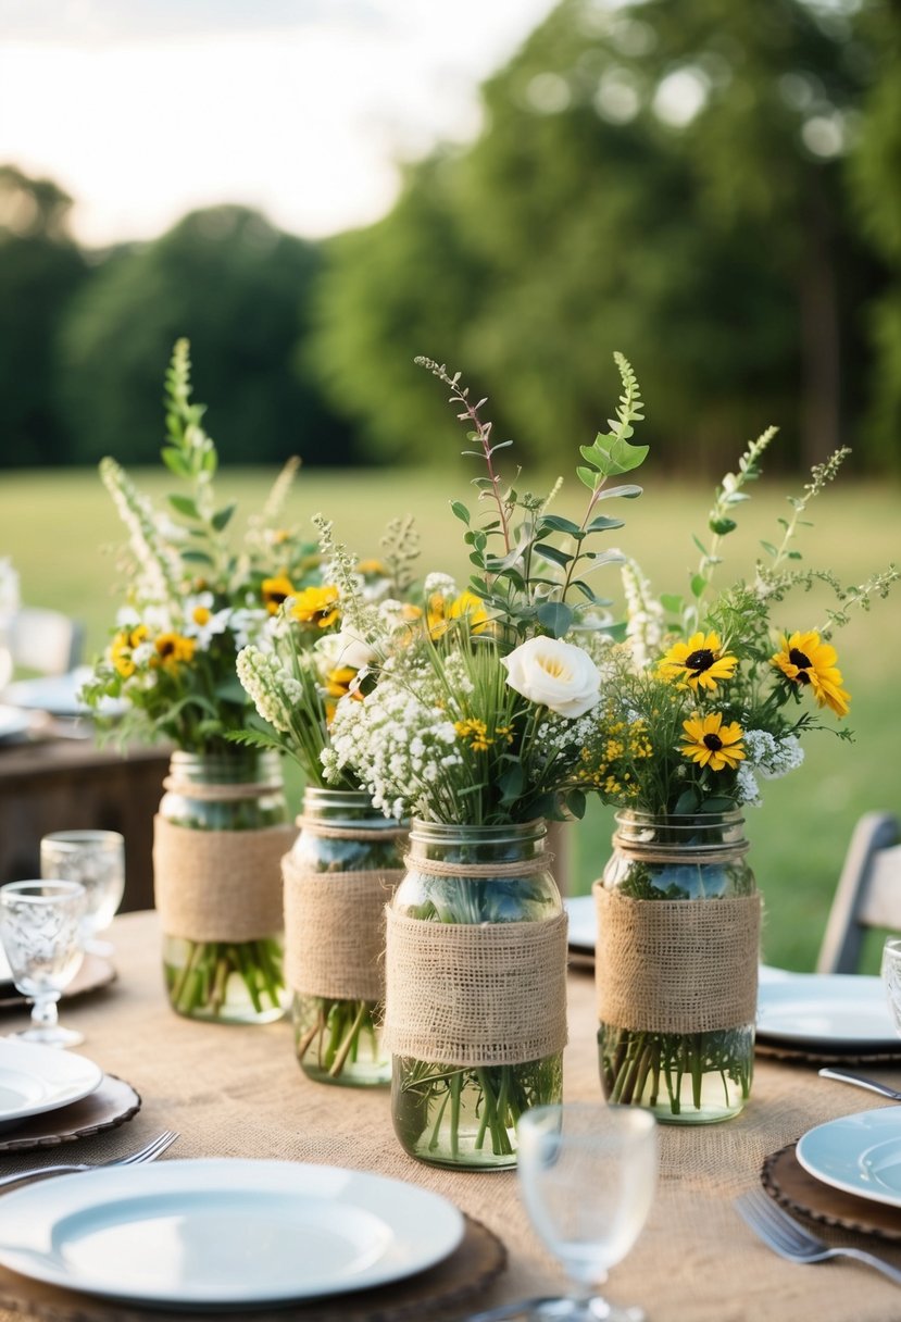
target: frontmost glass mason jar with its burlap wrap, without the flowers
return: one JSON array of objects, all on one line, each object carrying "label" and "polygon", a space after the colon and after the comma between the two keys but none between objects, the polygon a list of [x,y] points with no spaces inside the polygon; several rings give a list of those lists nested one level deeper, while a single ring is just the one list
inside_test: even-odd
[{"label": "frontmost glass mason jar with its burlap wrap, without the flowers", "polygon": [[435,1166],[515,1166],[517,1120],[558,1103],[565,916],[543,821],[414,820],[388,912],[386,1036],[392,1120]]}]

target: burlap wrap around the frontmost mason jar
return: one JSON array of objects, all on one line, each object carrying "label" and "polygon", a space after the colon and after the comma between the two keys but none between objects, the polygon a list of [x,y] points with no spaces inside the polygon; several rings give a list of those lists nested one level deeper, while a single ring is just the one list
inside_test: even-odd
[{"label": "burlap wrap around the frontmost mason jar", "polygon": [[540,1060],[567,1044],[567,915],[428,923],[387,912],[383,1044],[454,1066]]}]

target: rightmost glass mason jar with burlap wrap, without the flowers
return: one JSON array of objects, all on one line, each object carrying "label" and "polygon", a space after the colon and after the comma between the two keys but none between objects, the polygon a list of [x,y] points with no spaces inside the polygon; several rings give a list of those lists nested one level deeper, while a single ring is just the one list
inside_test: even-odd
[{"label": "rightmost glass mason jar with burlap wrap, without the flowers", "polygon": [[754,1062],[760,896],[744,818],[616,820],[595,883],[604,1093],[670,1124],[729,1120]]}]

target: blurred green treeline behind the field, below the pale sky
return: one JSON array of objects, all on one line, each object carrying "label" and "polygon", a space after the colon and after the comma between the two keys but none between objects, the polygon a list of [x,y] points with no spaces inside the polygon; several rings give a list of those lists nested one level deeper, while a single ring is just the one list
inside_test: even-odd
[{"label": "blurred green treeline behind the field, below the pale sky", "polygon": [[892,0],[561,0],[482,89],[465,149],[326,243],[219,206],[103,254],[0,169],[0,463],[151,463],[192,340],[223,459],[441,463],[416,369],[491,394],[554,467],[634,364],[659,461],[901,469],[901,11]]}]

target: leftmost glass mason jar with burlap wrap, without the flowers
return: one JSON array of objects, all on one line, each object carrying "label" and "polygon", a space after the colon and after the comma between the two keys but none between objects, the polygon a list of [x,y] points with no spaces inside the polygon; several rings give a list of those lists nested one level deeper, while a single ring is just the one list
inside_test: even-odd
[{"label": "leftmost glass mason jar with burlap wrap, without the flowers", "polygon": [[215,1023],[287,1009],[281,855],[288,818],[277,754],[173,752],[153,833],[153,884],[172,1007]]}]

